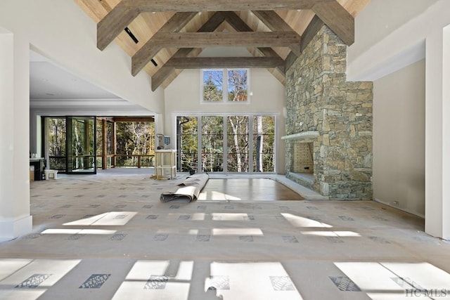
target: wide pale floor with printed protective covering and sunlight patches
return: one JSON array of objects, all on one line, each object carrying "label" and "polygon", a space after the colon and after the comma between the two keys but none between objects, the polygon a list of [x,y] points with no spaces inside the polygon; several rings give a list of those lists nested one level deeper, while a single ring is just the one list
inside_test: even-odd
[{"label": "wide pale floor with printed protective covering and sunlight patches", "polygon": [[183,176],[150,173],[32,182],[33,232],[0,244],[0,299],[450,298],[450,244],[416,216],[293,200],[264,176],[214,175],[204,199],[162,203]]}]

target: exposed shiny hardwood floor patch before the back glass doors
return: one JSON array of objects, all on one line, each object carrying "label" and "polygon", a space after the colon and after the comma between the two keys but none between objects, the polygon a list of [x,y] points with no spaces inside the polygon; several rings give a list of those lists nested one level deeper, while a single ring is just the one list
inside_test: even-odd
[{"label": "exposed shiny hardwood floor patch before the back glass doors", "polygon": [[210,178],[199,200],[285,201],[304,198],[285,185],[267,178]]}]

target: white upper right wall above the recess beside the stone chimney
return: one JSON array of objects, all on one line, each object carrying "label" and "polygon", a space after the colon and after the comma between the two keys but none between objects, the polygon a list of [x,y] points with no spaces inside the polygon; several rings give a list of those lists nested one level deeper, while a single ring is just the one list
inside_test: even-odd
[{"label": "white upper right wall above the recess beside the stone chimney", "polygon": [[347,80],[373,81],[425,58],[425,40],[449,24],[449,11],[448,0],[372,0],[355,18]]}]

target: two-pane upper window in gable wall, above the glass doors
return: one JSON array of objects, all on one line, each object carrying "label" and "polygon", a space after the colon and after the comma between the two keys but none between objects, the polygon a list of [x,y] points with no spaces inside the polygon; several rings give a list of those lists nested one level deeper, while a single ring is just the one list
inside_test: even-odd
[{"label": "two-pane upper window in gable wall, above the glass doors", "polygon": [[247,69],[202,70],[203,102],[247,102]]}]

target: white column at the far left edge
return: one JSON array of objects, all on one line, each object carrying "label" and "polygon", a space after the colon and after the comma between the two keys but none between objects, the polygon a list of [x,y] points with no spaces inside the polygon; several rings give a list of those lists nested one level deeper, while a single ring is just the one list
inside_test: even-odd
[{"label": "white column at the far left edge", "polygon": [[0,241],[32,230],[29,65],[28,44],[0,28]]}]

